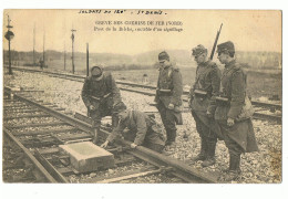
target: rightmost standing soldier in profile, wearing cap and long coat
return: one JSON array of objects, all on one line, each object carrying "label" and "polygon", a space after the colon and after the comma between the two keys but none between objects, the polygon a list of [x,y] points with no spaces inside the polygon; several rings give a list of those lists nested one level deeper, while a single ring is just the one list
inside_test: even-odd
[{"label": "rightmost standing soldier in profile, wearing cap and long coat", "polygon": [[229,151],[229,168],[225,180],[234,180],[240,174],[240,155],[257,151],[257,143],[250,118],[238,119],[245,105],[246,74],[235,60],[234,43],[217,45],[218,59],[225,64],[222,75],[222,95],[216,97],[215,119],[219,124]]}]

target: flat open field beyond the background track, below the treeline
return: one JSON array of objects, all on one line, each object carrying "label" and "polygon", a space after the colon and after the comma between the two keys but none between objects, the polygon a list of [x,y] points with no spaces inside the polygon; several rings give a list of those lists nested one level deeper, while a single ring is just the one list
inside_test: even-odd
[{"label": "flat open field beyond the background track, below the treeline", "polygon": [[[60,65],[50,66],[55,71],[63,71]],[[80,67],[80,66],[79,66]],[[66,72],[71,72],[71,66],[66,67]],[[85,66],[82,64],[81,70],[75,71],[76,74],[85,74]],[[223,66],[220,67],[223,71]],[[158,70],[157,69],[141,69],[141,70],[120,70],[110,71],[116,80],[131,81],[135,83],[143,82],[143,75],[147,74],[148,84],[156,85]],[[191,86],[195,80],[195,67],[181,67],[183,76],[183,85]],[[254,100],[266,101],[272,95],[278,95],[281,100],[282,95],[282,73],[280,70],[253,71],[246,70],[248,76],[247,90],[248,94]]]}]

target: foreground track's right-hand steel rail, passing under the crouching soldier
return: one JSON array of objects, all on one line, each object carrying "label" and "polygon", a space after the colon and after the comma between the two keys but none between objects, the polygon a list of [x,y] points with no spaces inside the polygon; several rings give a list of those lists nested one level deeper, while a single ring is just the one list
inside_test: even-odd
[{"label": "foreground track's right-hand steel rail, passing under the crouching soldier", "polygon": [[[30,105],[33,105],[35,107],[38,107],[39,109],[49,113],[51,116],[54,116],[74,127],[78,127],[79,129],[93,134],[93,129],[92,126],[88,123],[84,123],[82,121],[79,121],[74,117],[68,116],[65,114],[62,114],[60,112],[56,112],[52,108],[42,106],[35,102],[32,102],[31,100],[24,98],[18,94],[14,94],[14,98],[19,98],[22,102],[25,102]],[[106,130],[101,129],[102,135],[107,136],[110,133]],[[126,142],[123,139],[120,139],[120,142],[125,145],[125,146],[130,146],[131,142]],[[197,182],[217,182],[217,179],[215,177],[210,177],[207,174],[203,174],[197,169],[194,169],[192,167],[189,167],[188,165],[185,165],[183,161],[179,161],[177,159],[164,156],[162,154],[155,153],[151,149],[147,149],[145,147],[142,146],[137,146],[136,149],[134,149],[134,154],[140,154],[138,157],[141,156],[145,156],[145,158],[150,159],[153,158],[154,160],[156,160],[157,163],[164,165],[164,166],[169,166],[172,168],[174,168],[175,172],[178,174],[178,176],[184,176],[186,179],[186,181],[188,180],[189,182],[197,180]]]}]

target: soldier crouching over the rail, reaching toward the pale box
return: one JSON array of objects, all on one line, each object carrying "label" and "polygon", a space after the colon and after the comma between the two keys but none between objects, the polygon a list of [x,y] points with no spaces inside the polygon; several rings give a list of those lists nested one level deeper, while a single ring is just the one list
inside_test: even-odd
[{"label": "soldier crouching over the rail, reaching toward the pale box", "polygon": [[[112,143],[117,136],[122,135],[124,139],[133,142],[131,148],[142,145],[162,153],[165,139],[161,128],[152,117],[138,111],[124,109],[119,113],[119,118],[120,123],[117,127],[109,135],[101,147],[106,148],[109,143]],[[127,130],[124,130],[125,128]]]}]

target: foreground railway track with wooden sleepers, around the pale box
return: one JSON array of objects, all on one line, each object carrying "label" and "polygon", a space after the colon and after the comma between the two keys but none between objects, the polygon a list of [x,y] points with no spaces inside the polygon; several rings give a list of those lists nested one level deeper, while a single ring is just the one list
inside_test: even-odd
[{"label": "foreground railway track with wooden sleepers, around the pale box", "polygon": [[[6,168],[6,171],[25,165],[22,170],[28,170],[29,175],[24,172],[22,178],[4,178],[4,181],[134,182],[137,178],[161,175],[172,180],[169,182],[217,182],[216,174],[203,172],[142,146],[131,149],[131,143],[124,139],[119,139],[107,149],[114,156],[113,167],[101,167],[82,174],[73,167],[71,157],[63,153],[61,146],[91,144],[93,129],[89,118],[64,114],[64,109],[38,102],[24,93],[27,92],[13,91],[12,87],[4,88],[3,135],[9,140],[4,147],[14,149],[14,154],[21,157],[20,164],[10,164],[12,166]],[[110,130],[109,127],[101,128],[100,143],[104,142]]]}]

